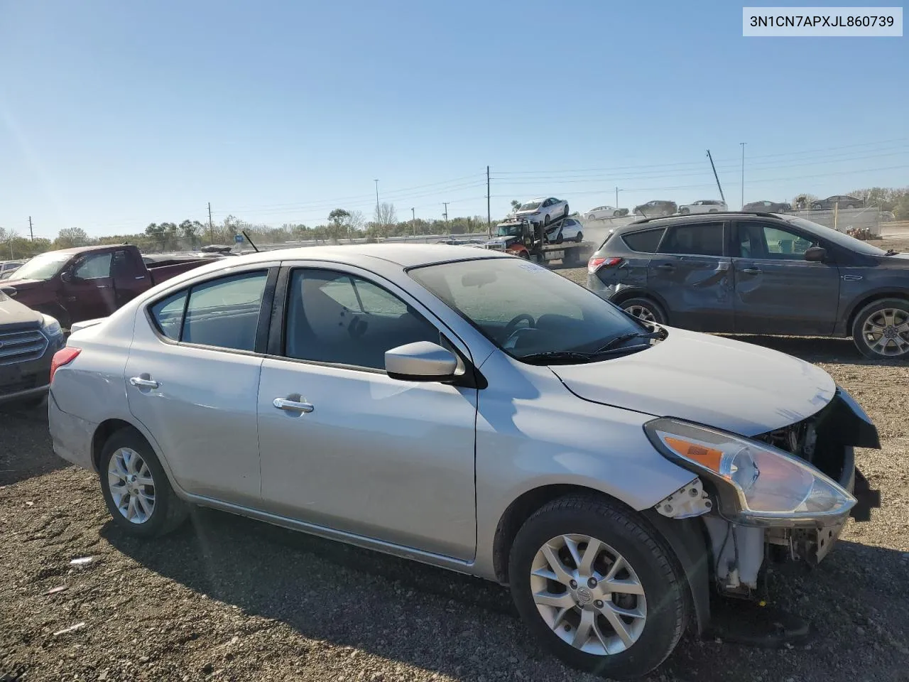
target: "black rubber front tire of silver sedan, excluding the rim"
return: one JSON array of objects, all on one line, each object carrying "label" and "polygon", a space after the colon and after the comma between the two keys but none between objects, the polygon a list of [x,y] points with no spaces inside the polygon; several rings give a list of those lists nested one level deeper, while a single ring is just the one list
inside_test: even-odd
[{"label": "black rubber front tire of silver sedan, excluding the rim", "polygon": [[[573,647],[554,634],[534,604],[530,573],[537,551],[555,537],[572,534],[594,537],[614,549],[644,587],[644,629],[620,653],[597,655]],[[687,586],[672,550],[644,517],[606,497],[566,496],[537,510],[514,538],[508,573],[525,626],[569,666],[604,677],[641,677],[663,663],[684,632]]]}]

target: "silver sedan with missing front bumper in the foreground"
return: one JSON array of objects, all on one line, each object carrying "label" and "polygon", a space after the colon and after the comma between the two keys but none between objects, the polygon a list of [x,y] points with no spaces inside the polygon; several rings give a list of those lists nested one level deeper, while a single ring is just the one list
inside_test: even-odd
[{"label": "silver sedan with missing front bumper in the foreground", "polygon": [[128,532],[203,505],[488,578],[610,677],[752,594],[765,546],[823,558],[876,442],[814,366],[441,245],[197,268],[83,323],[48,402]]}]

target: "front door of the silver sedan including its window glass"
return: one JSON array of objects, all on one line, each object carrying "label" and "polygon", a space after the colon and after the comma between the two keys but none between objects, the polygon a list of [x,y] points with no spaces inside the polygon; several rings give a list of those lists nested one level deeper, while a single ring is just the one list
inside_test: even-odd
[{"label": "front door of the silver sedan including its window glass", "polygon": [[[265,359],[258,393],[266,508],[473,557],[477,391],[397,381],[383,369],[386,350],[447,340],[403,292],[364,276],[298,268],[288,279],[286,329],[276,344],[286,358]],[[312,410],[276,407],[280,398]]]}]

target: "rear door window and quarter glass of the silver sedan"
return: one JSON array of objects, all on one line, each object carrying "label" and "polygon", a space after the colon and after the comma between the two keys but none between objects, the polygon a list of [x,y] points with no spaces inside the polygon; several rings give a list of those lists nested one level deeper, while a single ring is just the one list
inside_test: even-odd
[{"label": "rear door window and quarter glass of the silver sedan", "polygon": [[253,351],[266,279],[261,271],[210,280],[156,302],[149,312],[173,341]]}]

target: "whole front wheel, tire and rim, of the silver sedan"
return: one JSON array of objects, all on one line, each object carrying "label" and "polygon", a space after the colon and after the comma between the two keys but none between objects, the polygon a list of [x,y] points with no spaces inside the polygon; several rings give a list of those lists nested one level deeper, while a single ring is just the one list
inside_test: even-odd
[{"label": "whole front wheel, tire and rim, of the silver sedan", "polygon": [[662,538],[611,500],[569,496],[543,506],[514,538],[514,604],[570,666],[639,677],[684,630],[684,576]]}]

